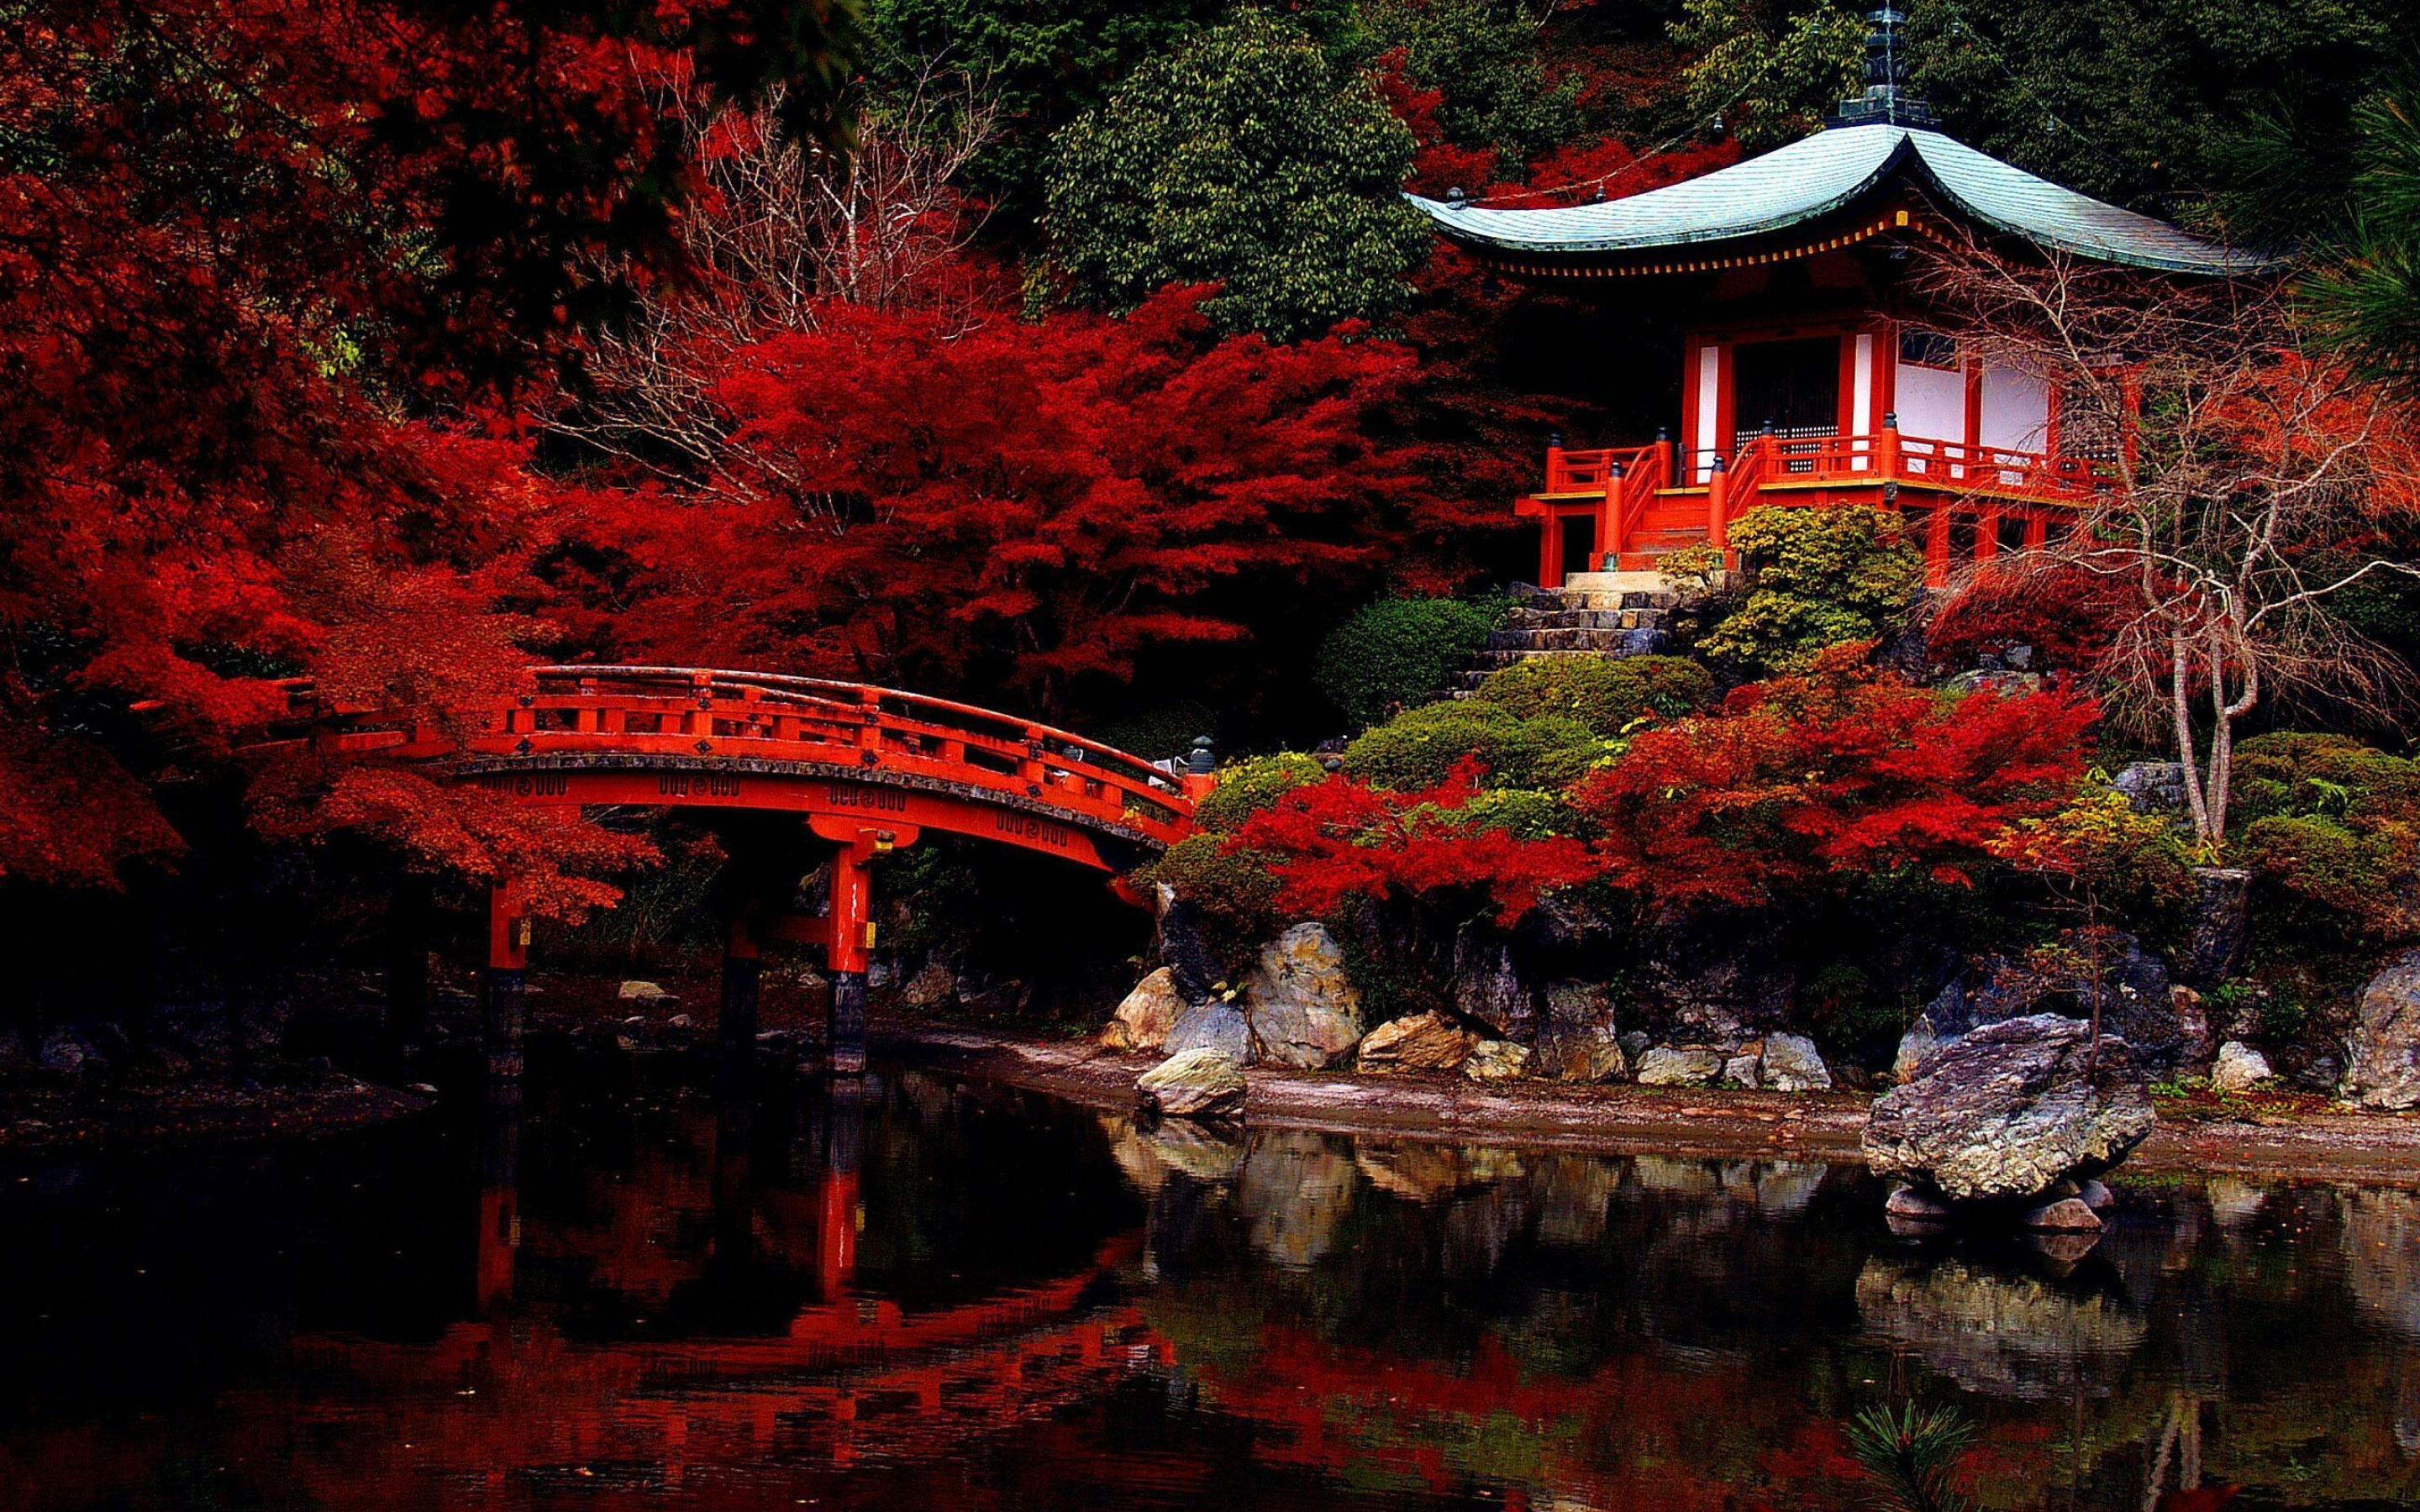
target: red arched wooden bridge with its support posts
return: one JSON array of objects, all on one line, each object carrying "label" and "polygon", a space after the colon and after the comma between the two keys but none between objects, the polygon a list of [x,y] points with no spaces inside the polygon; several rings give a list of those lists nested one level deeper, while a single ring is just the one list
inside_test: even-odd
[{"label": "red arched wooden bridge with its support posts", "polygon": [[[888,687],[697,668],[537,668],[535,689],[465,711],[467,735],[375,711],[322,716],[339,752],[426,757],[535,808],[707,808],[801,815],[830,861],[820,912],[794,898],[733,910],[724,951],[726,1043],[755,1035],[757,946],[823,946],[830,1057],[864,1067],[866,868],[924,832],[970,835],[1120,873],[1193,832],[1212,781],[973,704]],[[794,893],[794,890],[791,890]],[[530,924],[511,881],[489,900],[486,1016],[518,1067]]]}]

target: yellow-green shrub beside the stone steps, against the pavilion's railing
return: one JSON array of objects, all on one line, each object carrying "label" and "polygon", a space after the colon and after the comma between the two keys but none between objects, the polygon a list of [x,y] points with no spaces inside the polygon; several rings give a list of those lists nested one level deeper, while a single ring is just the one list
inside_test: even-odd
[{"label": "yellow-green shrub beside the stone steps, against the pavilion's railing", "polygon": [[1750,675],[1798,673],[1825,646],[1890,634],[1924,593],[1924,552],[1892,510],[1747,510],[1730,527],[1747,590],[1696,644]]}]

